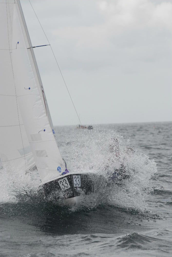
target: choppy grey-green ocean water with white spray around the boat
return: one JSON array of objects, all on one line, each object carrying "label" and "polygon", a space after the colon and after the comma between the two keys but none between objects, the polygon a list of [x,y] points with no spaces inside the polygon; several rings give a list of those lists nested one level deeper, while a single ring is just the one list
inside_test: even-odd
[{"label": "choppy grey-green ocean water with white spray around the boat", "polygon": [[[0,256],[171,256],[171,125],[55,127],[70,171],[110,177],[121,163],[126,167],[129,178],[87,208],[44,199],[36,171],[0,169]],[[116,138],[118,158],[109,151]]]}]

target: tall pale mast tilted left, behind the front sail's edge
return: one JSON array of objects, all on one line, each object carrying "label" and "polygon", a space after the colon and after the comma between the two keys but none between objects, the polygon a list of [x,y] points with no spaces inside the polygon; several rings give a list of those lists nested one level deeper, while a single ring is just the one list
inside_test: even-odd
[{"label": "tall pale mast tilted left, behind the front sail's edge", "polygon": [[40,72],[39,72],[39,69],[38,69],[38,66],[37,66],[35,54],[34,54],[33,47],[32,47],[32,42],[31,42],[30,35],[29,35],[28,29],[27,29],[27,25],[26,25],[26,21],[25,21],[25,17],[24,17],[24,14],[23,14],[23,10],[22,10],[22,6],[21,6],[21,3],[20,3],[20,0],[17,0],[17,3],[18,3],[18,8],[19,8],[19,11],[20,11],[20,15],[21,15],[21,18],[22,18],[24,30],[25,30],[25,33],[26,33],[27,41],[28,41],[28,48],[30,48],[30,52],[31,52],[31,55],[32,55],[33,63],[34,63],[34,66],[35,66],[35,71],[36,71],[37,79],[39,81],[38,84],[40,85],[40,93],[41,93],[40,95],[42,96],[41,97],[42,98],[42,102],[43,102],[43,105],[45,106],[45,111],[47,113],[51,129],[53,130],[53,123],[52,123],[52,119],[51,119],[50,110],[49,110],[48,103],[47,103],[47,100],[46,100],[46,97],[45,97],[45,91],[44,91],[44,88],[43,88]]}]

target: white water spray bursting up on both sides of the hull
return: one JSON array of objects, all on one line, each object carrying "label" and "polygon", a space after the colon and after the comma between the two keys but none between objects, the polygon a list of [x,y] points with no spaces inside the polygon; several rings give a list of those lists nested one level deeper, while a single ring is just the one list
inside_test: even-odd
[{"label": "white water spray bursting up on both sides of the hull", "polygon": [[[90,199],[90,208],[99,204],[141,211],[147,208],[156,164],[132,145],[126,135],[113,127],[99,126],[93,130],[66,127],[59,128],[56,140],[69,171],[93,171],[107,178],[106,190],[96,195],[96,203]],[[14,167],[0,169],[0,181],[1,203],[55,199],[53,196],[45,199],[38,190],[40,178],[36,170],[25,173]],[[62,201],[62,197],[59,199]]]}]

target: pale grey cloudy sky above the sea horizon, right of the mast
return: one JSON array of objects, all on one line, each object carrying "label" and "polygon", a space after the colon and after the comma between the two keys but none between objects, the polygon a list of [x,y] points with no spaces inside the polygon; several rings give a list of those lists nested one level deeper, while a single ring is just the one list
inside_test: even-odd
[{"label": "pale grey cloudy sky above the sea horizon, right of the mast", "polygon": [[[30,1],[83,124],[171,120],[171,1]],[[33,46],[46,44],[21,4]],[[78,124],[50,47],[34,52],[54,125]]]}]

